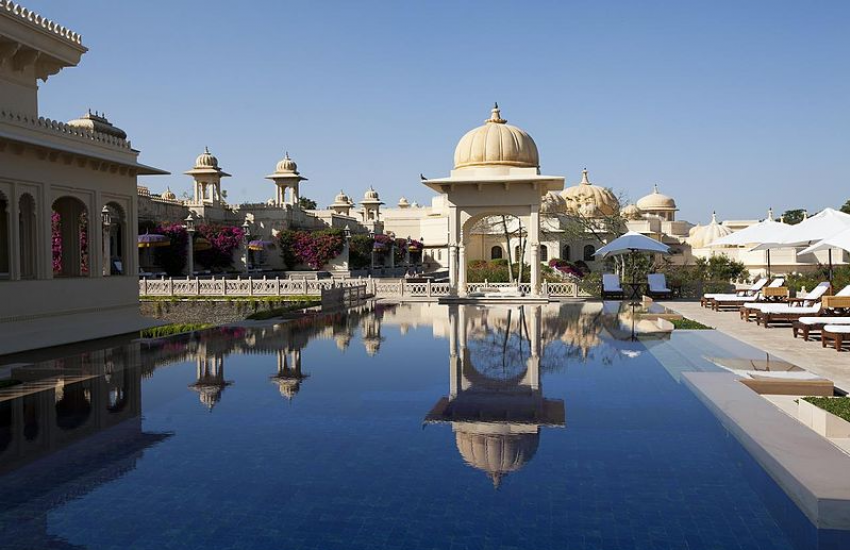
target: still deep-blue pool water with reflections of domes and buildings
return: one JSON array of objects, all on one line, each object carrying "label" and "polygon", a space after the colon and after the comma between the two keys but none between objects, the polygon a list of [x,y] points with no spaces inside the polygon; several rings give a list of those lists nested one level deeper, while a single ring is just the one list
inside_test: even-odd
[{"label": "still deep-blue pool water with reflections of domes and buildings", "polygon": [[841,547],[669,345],[600,304],[372,304],[18,367],[0,547]]}]

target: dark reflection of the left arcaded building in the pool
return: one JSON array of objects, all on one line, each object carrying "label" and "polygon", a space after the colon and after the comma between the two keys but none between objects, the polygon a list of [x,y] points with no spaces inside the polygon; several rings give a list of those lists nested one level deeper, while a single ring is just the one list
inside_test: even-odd
[{"label": "dark reflection of the left arcaded building in the pool", "polygon": [[21,383],[0,389],[3,540],[77,548],[53,534],[53,510],[134,470],[171,436],[142,429],[139,363],[131,344],[10,369]]}]

